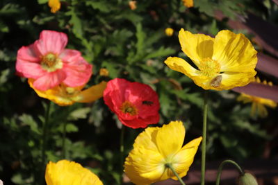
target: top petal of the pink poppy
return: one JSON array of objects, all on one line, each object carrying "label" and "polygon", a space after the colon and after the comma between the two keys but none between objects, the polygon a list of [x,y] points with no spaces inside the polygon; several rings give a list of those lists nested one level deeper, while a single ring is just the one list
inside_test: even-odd
[{"label": "top petal of the pink poppy", "polygon": [[43,30],[40,33],[40,39],[35,41],[35,48],[41,55],[47,55],[47,53],[59,55],[66,45],[67,35],[53,30]]}]

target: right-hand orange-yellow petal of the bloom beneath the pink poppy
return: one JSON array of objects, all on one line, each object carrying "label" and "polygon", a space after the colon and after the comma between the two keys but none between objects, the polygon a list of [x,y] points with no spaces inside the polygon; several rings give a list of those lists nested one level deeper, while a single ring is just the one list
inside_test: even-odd
[{"label": "right-hand orange-yellow petal of the bloom beneath the pink poppy", "polygon": [[81,91],[81,93],[76,97],[76,99],[74,98],[74,100],[80,103],[93,102],[103,96],[106,84],[107,82],[102,81],[98,85],[93,85],[92,87]]}]

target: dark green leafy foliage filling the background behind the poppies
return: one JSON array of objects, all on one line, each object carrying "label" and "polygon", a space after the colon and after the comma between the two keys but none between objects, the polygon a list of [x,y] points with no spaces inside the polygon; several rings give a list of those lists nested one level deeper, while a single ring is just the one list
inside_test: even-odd
[{"label": "dark green leafy foliage filling the background behind the poppies", "polygon": [[[99,76],[99,69],[106,68],[109,79],[125,78],[150,85],[161,103],[159,123],[183,121],[190,141],[202,135],[203,91],[163,63],[170,55],[190,61],[181,52],[178,31],[185,28],[193,33],[215,35],[218,30],[229,29],[227,19],[236,19],[236,15],[246,15],[247,11],[275,21],[277,9],[272,8],[273,2],[264,2],[265,5],[251,0],[195,0],[194,8],[186,8],[179,0],[140,0],[136,10],[131,10],[128,1],[122,0],[65,0],[61,1],[61,9],[52,14],[46,0],[2,0],[0,177],[3,182],[39,184],[42,178],[42,125],[49,102],[38,98],[26,79],[15,76],[17,50],[38,39],[41,30],[67,33],[67,47],[81,51],[85,60],[94,65],[89,84],[108,80]],[[215,19],[215,11],[219,10],[227,19]],[[167,27],[174,29],[172,37],[165,35]],[[267,121],[250,118],[250,106],[236,102],[236,93],[210,91],[209,94],[208,159],[260,157],[263,147],[260,144],[272,139],[263,123],[271,126],[275,110],[269,110]],[[50,115],[47,160],[62,159],[65,130],[65,158],[89,166],[104,184],[115,184],[122,165],[118,152],[120,124],[103,100],[70,107],[51,103]],[[141,131],[127,129],[126,155]]]}]

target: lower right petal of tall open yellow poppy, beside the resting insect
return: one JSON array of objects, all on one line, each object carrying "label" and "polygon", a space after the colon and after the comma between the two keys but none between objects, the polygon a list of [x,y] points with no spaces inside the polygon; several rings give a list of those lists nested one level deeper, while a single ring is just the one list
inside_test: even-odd
[{"label": "lower right petal of tall open yellow poppy, beside the resting insect", "polygon": [[216,90],[227,90],[234,87],[241,87],[254,81],[256,71],[250,73],[237,73],[237,72],[224,72],[221,74],[222,80],[219,87],[215,87]]}]

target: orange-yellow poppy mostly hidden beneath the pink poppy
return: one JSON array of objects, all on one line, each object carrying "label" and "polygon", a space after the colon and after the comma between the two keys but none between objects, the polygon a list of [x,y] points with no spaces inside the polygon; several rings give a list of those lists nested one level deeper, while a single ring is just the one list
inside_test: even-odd
[{"label": "orange-yellow poppy mostly hidden beneath the pink poppy", "polygon": [[107,84],[107,82],[101,82],[98,85],[93,85],[83,91],[83,86],[67,87],[64,84],[61,84],[52,89],[48,89],[47,91],[40,91],[33,87],[33,81],[33,79],[28,78],[30,87],[35,90],[38,96],[47,98],[60,106],[72,105],[75,102],[91,103],[103,96]]}]

